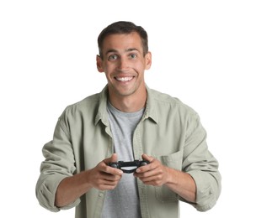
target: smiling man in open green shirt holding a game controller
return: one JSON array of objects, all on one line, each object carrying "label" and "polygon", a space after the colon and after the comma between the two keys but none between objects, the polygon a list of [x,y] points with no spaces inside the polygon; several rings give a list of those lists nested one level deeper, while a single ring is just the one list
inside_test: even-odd
[{"label": "smiling man in open green shirt holding a game controller", "polygon": [[[52,211],[76,206],[77,218],[179,217],[179,200],[211,209],[221,193],[218,162],[198,114],[147,87],[147,32],[116,22],[98,44],[97,68],[108,84],[59,118],[43,148],[40,205]],[[147,164],[133,174],[109,165],[133,160]]]}]

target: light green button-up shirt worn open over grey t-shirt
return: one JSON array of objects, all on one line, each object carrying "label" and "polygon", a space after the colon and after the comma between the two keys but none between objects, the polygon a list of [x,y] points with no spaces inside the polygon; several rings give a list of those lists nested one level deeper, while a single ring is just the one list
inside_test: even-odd
[{"label": "light green button-up shirt worn open over grey t-shirt", "polygon": [[[92,169],[114,151],[109,127],[108,88],[67,106],[59,118],[53,139],[43,148],[36,195],[40,205],[51,211],[76,206],[76,218],[101,217],[106,191],[90,189],[71,205],[54,205],[61,179]],[[216,204],[221,193],[218,162],[209,152],[200,117],[181,101],[147,87],[147,105],[133,135],[136,159],[147,153],[164,165],[182,170],[195,179],[197,210]],[[137,179],[141,216],[179,217],[179,200],[166,186],[154,187]],[[189,203],[189,202],[188,202]]]}]

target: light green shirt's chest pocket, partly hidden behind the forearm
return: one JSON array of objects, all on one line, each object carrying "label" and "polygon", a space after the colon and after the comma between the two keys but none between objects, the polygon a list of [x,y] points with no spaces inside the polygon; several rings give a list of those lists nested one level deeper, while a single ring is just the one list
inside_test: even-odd
[{"label": "light green shirt's chest pocket, partly hidden behind the forearm", "polygon": [[[179,151],[177,153],[171,153],[167,156],[159,156],[157,157],[157,159],[160,160],[161,163],[163,163],[163,165],[166,165],[169,168],[177,170],[182,169],[182,151]],[[172,190],[168,189],[165,185],[155,187],[155,194],[157,200],[160,200],[161,202],[173,201],[178,199],[178,195],[174,193]]]}]

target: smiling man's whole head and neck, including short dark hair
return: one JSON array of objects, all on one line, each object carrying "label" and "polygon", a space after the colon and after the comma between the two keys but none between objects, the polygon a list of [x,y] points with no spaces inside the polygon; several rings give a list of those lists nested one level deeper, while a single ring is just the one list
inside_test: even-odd
[{"label": "smiling man's whole head and neck, including short dark hair", "polygon": [[98,43],[97,68],[108,80],[109,101],[114,106],[121,99],[143,102],[147,96],[144,71],[152,64],[146,31],[134,23],[120,21],[105,28]]}]

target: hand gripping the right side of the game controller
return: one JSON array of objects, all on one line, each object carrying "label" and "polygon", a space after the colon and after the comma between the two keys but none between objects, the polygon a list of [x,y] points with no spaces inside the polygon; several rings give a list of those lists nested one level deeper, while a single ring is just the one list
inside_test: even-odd
[{"label": "hand gripping the right side of the game controller", "polygon": [[168,167],[147,154],[142,154],[141,157],[150,163],[136,169],[136,173],[134,174],[136,178],[141,179],[144,184],[153,186],[161,186],[168,183]]}]

